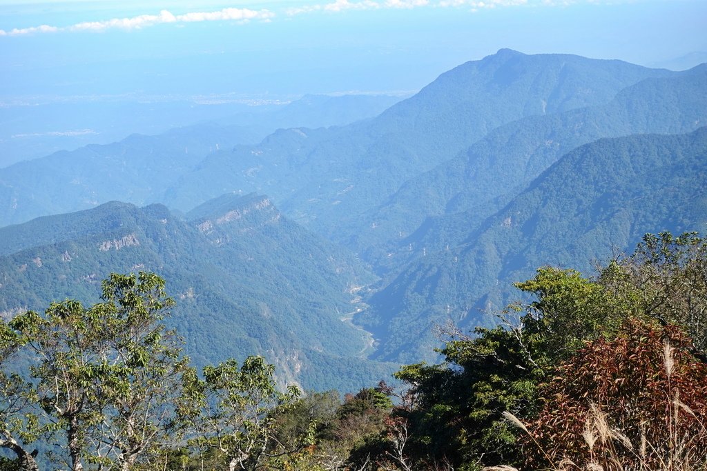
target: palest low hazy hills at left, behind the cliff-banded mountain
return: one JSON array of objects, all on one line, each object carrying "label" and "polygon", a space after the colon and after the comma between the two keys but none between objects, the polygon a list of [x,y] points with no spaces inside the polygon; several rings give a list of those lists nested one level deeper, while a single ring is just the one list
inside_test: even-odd
[{"label": "palest low hazy hills at left, behind the cliff-banded mountain", "polygon": [[111,200],[159,203],[166,189],[219,148],[257,143],[279,127],[346,124],[398,100],[385,95],[308,95],[288,105],[235,114],[222,120],[226,124],[204,122],[156,136],[134,134],[115,143],[19,162],[0,169],[0,225]]}]

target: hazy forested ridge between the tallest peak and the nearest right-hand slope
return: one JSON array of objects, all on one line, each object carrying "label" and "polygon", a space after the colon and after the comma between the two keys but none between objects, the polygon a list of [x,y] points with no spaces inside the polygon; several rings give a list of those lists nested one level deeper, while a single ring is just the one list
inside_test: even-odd
[{"label": "hazy forested ridge between the tallest peak and the nearest right-hand slope", "polygon": [[[685,133],[704,126],[706,88],[703,64],[631,85],[604,105],[500,126],[455,158],[410,179],[389,201],[370,211],[352,248],[365,248],[363,256],[390,269],[423,249],[435,251],[461,242],[466,229],[479,225],[579,145],[603,137]],[[458,216],[460,212],[464,214]],[[426,221],[428,217],[436,220]]]}]

